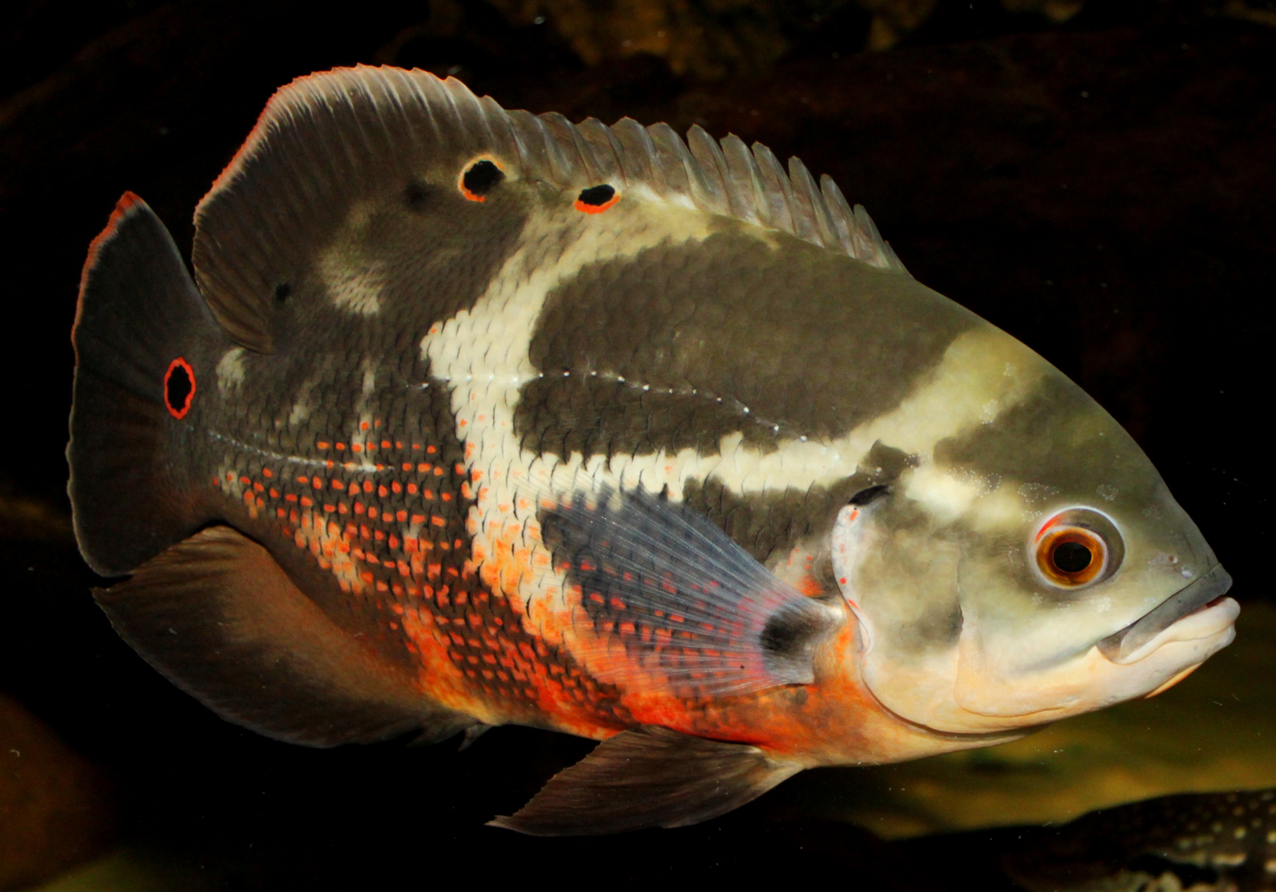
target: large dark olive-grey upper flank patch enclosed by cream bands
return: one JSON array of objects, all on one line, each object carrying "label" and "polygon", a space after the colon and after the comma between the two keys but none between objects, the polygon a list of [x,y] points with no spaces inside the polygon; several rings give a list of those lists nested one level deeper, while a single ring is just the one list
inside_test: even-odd
[{"label": "large dark olive-grey upper flank patch enclosed by cream bands", "polygon": [[837,436],[897,406],[977,323],[912,279],[772,235],[730,223],[555,288],[531,345],[544,378],[514,416],[523,443],[713,454],[736,431],[760,449]]}]

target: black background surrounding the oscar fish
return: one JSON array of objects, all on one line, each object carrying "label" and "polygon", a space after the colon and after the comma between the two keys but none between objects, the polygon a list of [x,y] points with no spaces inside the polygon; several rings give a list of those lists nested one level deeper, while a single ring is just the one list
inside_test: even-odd
[{"label": "black background surrounding the oscar fish", "polygon": [[[106,803],[87,829],[63,824],[48,864],[142,844],[202,865],[212,888],[269,889],[546,873],[620,887],[801,882],[828,870],[870,888],[956,888],[993,870],[983,844],[963,844],[958,860],[944,844],[916,858],[804,818],[792,796],[686,831],[516,837],[481,824],[590,744],[504,729],[461,754],[286,747],[218,721],[115,638],[88,597],[93,577],[65,500],[69,331],[85,248],[128,189],[189,253],[200,195],[271,93],[313,70],[420,66],[508,108],[629,115],[680,131],[695,123],[801,156],[869,209],[916,278],[1094,394],[1156,462],[1235,577],[1234,593],[1271,597],[1271,4],[1090,3],[1055,23],[940,0],[894,48],[870,54],[873,5],[10,9],[0,24],[0,692],[87,758],[96,780],[84,789],[97,792],[84,796]],[[703,40],[632,52],[628,32],[602,27],[621,6],[676,8],[683,18],[669,20],[693,19]],[[1257,14],[1238,15],[1242,6]],[[1003,882],[988,877],[985,888]]]}]

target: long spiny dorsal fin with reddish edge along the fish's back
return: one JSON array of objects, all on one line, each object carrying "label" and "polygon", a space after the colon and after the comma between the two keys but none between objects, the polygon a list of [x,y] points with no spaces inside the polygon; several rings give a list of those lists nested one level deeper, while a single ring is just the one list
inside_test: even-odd
[{"label": "long spiny dorsal fin with reddish edge along the fish's back", "polygon": [[314,246],[333,207],[384,191],[440,161],[491,154],[505,176],[563,190],[602,182],[621,191],[730,216],[905,273],[868,214],[800,161],[789,174],[768,148],[721,143],[693,126],[621,119],[578,125],[558,114],[505,111],[454,78],[357,66],[279,89],[195,212],[197,278],[240,345],[274,350],[272,300],[299,244]]}]

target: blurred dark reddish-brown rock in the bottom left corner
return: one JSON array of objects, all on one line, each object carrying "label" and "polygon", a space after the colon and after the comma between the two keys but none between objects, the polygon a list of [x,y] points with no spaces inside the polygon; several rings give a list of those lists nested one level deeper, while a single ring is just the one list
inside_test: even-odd
[{"label": "blurred dark reddish-brown rock in the bottom left corner", "polygon": [[112,823],[103,772],[0,694],[0,889],[28,887],[93,858]]}]

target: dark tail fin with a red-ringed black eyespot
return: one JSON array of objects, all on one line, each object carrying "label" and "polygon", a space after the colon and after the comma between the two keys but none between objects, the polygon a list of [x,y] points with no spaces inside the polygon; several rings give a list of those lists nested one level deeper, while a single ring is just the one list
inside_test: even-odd
[{"label": "dark tail fin with a red-ringed black eyespot", "polygon": [[125,193],[89,246],[71,331],[69,493],[80,553],[119,576],[209,518],[189,456],[225,334],[168,230]]}]

